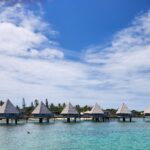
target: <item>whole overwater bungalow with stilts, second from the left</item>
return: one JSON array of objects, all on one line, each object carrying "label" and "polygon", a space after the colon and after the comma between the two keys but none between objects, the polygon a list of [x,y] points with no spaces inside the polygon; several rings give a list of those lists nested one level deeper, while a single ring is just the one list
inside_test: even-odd
[{"label": "whole overwater bungalow with stilts, second from the left", "polygon": [[54,114],[49,111],[49,109],[46,107],[46,105],[43,102],[41,102],[33,110],[32,116],[34,118],[39,118],[39,123],[42,123],[43,119],[46,119],[47,122],[49,123],[49,119],[54,117]]}]

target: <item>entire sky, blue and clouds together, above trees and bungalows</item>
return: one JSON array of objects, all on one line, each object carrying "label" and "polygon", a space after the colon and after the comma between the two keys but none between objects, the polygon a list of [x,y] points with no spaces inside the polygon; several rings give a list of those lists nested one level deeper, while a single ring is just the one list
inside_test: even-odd
[{"label": "entire sky, blue and clouds together, above trees and bungalows", "polygon": [[144,109],[149,43],[148,0],[1,1],[1,99]]}]

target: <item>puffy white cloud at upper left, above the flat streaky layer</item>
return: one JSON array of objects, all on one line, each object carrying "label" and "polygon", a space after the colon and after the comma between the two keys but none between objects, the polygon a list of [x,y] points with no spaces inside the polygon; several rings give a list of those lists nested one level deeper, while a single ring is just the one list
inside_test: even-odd
[{"label": "puffy white cloud at upper left, above the flat streaky layer", "polygon": [[0,10],[1,54],[45,59],[63,58],[57,42],[45,35],[48,32],[48,36],[54,36],[57,32],[40,16],[36,16],[21,4],[1,4]]}]

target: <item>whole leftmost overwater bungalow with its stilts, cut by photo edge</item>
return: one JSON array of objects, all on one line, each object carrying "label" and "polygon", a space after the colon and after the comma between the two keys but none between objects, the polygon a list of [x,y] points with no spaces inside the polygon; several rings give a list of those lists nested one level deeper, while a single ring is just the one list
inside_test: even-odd
[{"label": "whole leftmost overwater bungalow with its stilts, cut by photo edge", "polygon": [[1,107],[0,107],[0,118],[6,119],[6,123],[9,124],[9,119],[12,121],[15,120],[15,124],[17,124],[19,118],[19,111],[18,109],[11,103],[10,100],[7,100]]}]

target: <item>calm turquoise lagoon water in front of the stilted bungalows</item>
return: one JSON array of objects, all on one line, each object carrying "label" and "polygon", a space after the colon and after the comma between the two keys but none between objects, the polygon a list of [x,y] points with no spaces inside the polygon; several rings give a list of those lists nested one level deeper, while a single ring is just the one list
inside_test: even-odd
[{"label": "calm turquoise lagoon water in front of the stilted bungalows", "polygon": [[[31,134],[27,134],[30,131]],[[0,150],[149,150],[150,122],[0,125]]]}]

